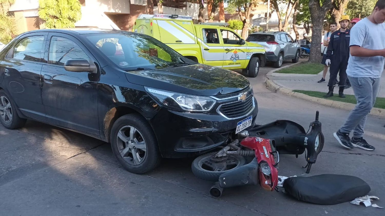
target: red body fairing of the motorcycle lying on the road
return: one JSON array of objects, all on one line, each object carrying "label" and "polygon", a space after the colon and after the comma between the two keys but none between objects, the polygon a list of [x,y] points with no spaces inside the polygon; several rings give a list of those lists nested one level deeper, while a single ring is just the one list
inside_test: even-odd
[{"label": "red body fairing of the motorcycle lying on the road", "polygon": [[[278,184],[278,152],[275,150],[274,140],[260,137],[246,137],[241,141],[243,147],[254,150],[259,165],[259,183],[264,190],[272,191]],[[275,155],[277,159],[275,159]]]}]

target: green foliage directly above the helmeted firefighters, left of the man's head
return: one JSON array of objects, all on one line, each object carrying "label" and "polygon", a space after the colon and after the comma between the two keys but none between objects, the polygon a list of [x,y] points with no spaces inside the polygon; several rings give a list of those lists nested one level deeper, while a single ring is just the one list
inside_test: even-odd
[{"label": "green foliage directly above the helmeted firefighters, left of the man's head", "polygon": [[360,19],[369,16],[377,0],[350,0],[346,7],[346,14],[350,18],[358,17]]}]

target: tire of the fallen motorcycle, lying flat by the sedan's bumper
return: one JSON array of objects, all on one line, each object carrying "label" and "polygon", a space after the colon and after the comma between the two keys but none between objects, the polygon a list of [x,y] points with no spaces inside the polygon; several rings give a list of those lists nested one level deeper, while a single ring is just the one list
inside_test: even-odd
[{"label": "tire of the fallen motorcycle, lying flat by the sedan's bumper", "polygon": [[[206,181],[218,181],[219,176],[221,176],[223,173],[233,170],[237,167],[243,166],[246,164],[246,159],[243,156],[238,155],[228,155],[226,157],[229,157],[229,160],[232,160],[236,162],[236,166],[224,171],[210,171],[203,167],[203,164],[206,160],[208,160],[209,157],[215,155],[215,152],[207,153],[204,155],[201,155],[194,159],[194,161],[191,164],[191,171],[194,173],[195,176],[197,176],[200,179],[206,180]],[[216,164],[213,162],[213,164]]]}]

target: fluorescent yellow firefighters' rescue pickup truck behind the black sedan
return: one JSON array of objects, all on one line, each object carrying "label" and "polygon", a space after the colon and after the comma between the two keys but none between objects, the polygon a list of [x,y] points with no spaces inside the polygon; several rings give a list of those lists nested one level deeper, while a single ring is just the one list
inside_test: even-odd
[{"label": "fluorescent yellow firefighters' rescue pickup truck behind the black sedan", "polygon": [[140,15],[133,27],[166,44],[188,59],[224,69],[242,69],[256,77],[266,62],[265,48],[243,40],[227,23],[192,22],[191,16]]}]

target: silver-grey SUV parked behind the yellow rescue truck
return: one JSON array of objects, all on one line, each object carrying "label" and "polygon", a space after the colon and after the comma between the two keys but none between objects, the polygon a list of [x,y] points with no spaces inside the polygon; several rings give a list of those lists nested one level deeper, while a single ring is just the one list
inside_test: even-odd
[{"label": "silver-grey SUV parked behind the yellow rescue truck", "polygon": [[283,61],[291,60],[293,63],[297,63],[300,58],[300,45],[283,31],[252,33],[246,41],[264,46],[266,48],[266,61],[274,62],[276,68],[280,68]]}]

